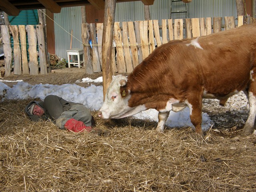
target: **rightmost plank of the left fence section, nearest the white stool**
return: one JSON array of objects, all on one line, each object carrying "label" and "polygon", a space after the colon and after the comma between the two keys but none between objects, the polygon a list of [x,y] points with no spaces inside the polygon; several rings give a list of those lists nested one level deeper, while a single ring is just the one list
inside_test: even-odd
[{"label": "rightmost plank of the left fence section, nearest the white stool", "polygon": [[38,51],[40,62],[40,74],[47,74],[47,62],[44,41],[44,28],[42,25],[36,25],[36,35],[38,37]]}]

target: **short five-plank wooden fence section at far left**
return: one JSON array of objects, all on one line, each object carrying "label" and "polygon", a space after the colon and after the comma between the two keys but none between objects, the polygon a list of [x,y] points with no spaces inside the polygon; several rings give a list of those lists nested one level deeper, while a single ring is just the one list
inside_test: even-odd
[{"label": "short five-plank wooden fence section at far left", "polygon": [[[40,74],[47,74],[42,25],[27,25],[26,27],[24,25],[2,25],[1,30],[5,57],[5,76],[10,76],[12,69],[13,74],[16,75],[38,75],[39,71]],[[27,45],[29,56],[26,49]],[[40,62],[38,62],[38,58]]]}]

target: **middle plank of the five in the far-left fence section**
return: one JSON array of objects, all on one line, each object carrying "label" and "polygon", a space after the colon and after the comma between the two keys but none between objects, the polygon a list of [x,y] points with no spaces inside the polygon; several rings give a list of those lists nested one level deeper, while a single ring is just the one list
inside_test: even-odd
[{"label": "middle plank of the five in the far-left fence section", "polygon": [[20,32],[20,47],[21,47],[21,58],[22,58],[22,73],[29,74],[28,68],[28,55],[27,55],[27,46],[26,46],[26,30],[24,25],[19,25]]}]

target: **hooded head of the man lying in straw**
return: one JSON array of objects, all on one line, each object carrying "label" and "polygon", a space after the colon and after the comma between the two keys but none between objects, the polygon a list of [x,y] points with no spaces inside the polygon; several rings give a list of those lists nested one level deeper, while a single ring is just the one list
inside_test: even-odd
[{"label": "hooded head of the man lying in straw", "polygon": [[25,108],[26,114],[28,114],[28,117],[32,119],[33,121],[38,121],[39,116],[44,115],[44,109],[40,105],[40,102],[32,101],[30,102],[26,108]]}]

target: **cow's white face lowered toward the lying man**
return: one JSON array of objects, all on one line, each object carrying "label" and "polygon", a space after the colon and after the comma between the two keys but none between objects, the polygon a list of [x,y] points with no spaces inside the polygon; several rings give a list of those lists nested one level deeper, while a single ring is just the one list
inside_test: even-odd
[{"label": "cow's white face lowered toward the lying man", "polygon": [[130,90],[120,93],[120,86],[125,86],[127,78],[117,75],[113,78],[108,87],[105,101],[100,108],[99,117],[102,119],[119,119],[137,114],[142,110],[146,110],[144,105],[129,107],[128,100],[131,98]]}]

